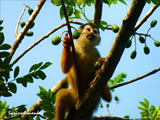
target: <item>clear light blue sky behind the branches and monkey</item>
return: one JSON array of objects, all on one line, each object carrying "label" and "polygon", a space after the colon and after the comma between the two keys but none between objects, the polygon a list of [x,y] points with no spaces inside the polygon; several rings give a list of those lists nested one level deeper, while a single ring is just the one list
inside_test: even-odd
[{"label": "clear light blue sky behind the branches and monkey", "polygon": [[[5,34],[5,42],[13,44],[16,40],[15,37],[15,28],[18,22],[18,19],[23,10],[24,4],[35,8],[39,0],[0,0],[0,19],[3,19],[4,26],[3,32]],[[119,3],[118,5],[112,5],[108,7],[107,5],[103,6],[102,20],[107,21],[108,24],[121,25],[123,18],[125,17],[127,10],[131,4],[131,0],[126,0],[127,6]],[[149,11],[153,4],[146,4],[139,20]],[[86,15],[92,19],[93,16],[93,6],[86,9]],[[153,15],[144,23],[144,25],[137,31],[139,33],[146,33],[150,22],[153,19],[158,20],[157,26],[150,31],[152,37],[160,41],[160,8],[158,8]],[[25,11],[24,16],[22,17],[23,21],[27,21],[29,15]],[[84,22],[84,21],[82,21]],[[51,4],[47,0],[42,7],[40,13],[35,19],[35,26],[32,29],[34,32],[33,37],[25,37],[19,48],[17,49],[15,55],[13,56],[14,60],[18,57],[24,50],[26,50],[30,45],[39,40],[41,37],[46,35],[49,31],[58,27],[59,25],[65,23],[65,20],[60,19],[59,8]],[[73,24],[72,24],[73,25]],[[73,25],[78,28],[78,25]],[[60,58],[62,52],[62,44],[54,46],[51,44],[51,39],[54,36],[61,35],[63,31],[67,30],[66,27],[56,31],[54,34],[50,35],[47,39],[43,40],[38,46],[34,47],[29,51],[18,63],[14,66],[20,66],[20,76],[28,73],[29,68],[39,62],[52,62],[52,66],[45,70],[47,78],[45,80],[34,80],[34,83],[29,83],[27,87],[22,85],[17,85],[18,90],[16,94],[13,94],[12,97],[1,97],[0,100],[7,101],[7,104],[10,107],[18,106],[20,104],[26,104],[27,108],[31,107],[39,97],[36,95],[39,92],[39,85],[43,86],[45,89],[52,88],[59,80],[65,77],[65,74],[61,72],[60,68]],[[19,28],[19,31],[21,28]],[[101,43],[97,47],[101,56],[107,56],[116,34],[112,31],[101,31]],[[147,39],[147,45],[150,48],[150,54],[145,55],[143,53],[143,44],[140,44],[137,40],[137,57],[136,59],[130,59],[130,53],[134,50],[134,45],[129,49],[125,49],[124,54],[112,76],[114,78],[119,73],[124,72],[127,74],[125,81],[131,80],[133,78],[139,77],[143,74],[146,74],[156,68],[160,67],[160,48],[154,46],[154,42],[151,39]],[[11,79],[13,80],[13,73],[11,74]],[[144,98],[148,99],[150,104],[155,105],[156,107],[160,105],[160,72],[149,76],[138,82],[120,87],[115,89],[113,92],[113,97],[117,95],[120,99],[118,105],[113,99],[110,103],[110,112],[113,116],[123,117],[124,115],[130,115],[131,118],[139,118],[140,110],[138,110],[139,101],[143,101]],[[104,101],[102,104],[106,104]],[[94,113],[97,116],[107,115],[106,111],[102,108],[98,108]]]}]

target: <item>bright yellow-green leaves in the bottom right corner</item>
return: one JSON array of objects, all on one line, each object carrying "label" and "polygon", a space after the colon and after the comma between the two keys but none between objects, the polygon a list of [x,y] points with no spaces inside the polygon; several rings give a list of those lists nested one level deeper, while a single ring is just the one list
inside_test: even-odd
[{"label": "bright yellow-green leaves in the bottom right corner", "polygon": [[149,119],[149,120],[158,120],[160,119],[160,105],[156,108],[154,105],[149,105],[149,101],[144,98],[144,102],[139,102],[141,106],[138,109],[142,110],[140,112],[142,119]]}]

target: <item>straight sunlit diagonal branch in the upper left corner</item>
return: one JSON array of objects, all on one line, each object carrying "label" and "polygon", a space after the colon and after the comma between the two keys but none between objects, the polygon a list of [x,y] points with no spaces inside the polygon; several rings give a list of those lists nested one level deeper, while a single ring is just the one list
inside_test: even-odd
[{"label": "straight sunlit diagonal branch in the upper left corner", "polygon": [[34,21],[34,19],[36,18],[36,16],[38,15],[40,9],[42,8],[43,4],[45,3],[46,0],[40,0],[40,2],[38,3],[37,7],[35,8],[34,12],[32,13],[32,15],[30,16],[30,18],[28,19],[28,22],[26,23],[26,25],[23,27],[22,31],[19,33],[19,35],[17,36],[14,44],[12,45],[11,49],[10,49],[10,56],[9,56],[9,60],[11,61],[14,53],[16,52],[18,46],[20,45],[20,43],[22,42],[25,33],[28,31],[30,24],[32,24],[32,22]]}]

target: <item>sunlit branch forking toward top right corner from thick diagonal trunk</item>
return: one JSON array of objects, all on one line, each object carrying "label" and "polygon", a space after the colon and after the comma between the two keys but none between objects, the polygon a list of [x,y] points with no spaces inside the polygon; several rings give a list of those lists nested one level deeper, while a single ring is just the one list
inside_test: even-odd
[{"label": "sunlit branch forking toward top right corner from thick diagonal trunk", "polygon": [[156,5],[153,5],[152,8],[148,11],[148,13],[136,24],[134,31],[137,31],[141,25],[152,15],[152,13],[159,7]]}]

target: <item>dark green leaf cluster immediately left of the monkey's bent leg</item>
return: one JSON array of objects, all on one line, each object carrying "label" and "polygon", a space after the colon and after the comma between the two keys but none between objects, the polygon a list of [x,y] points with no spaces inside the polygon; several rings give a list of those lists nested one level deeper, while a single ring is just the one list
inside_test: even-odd
[{"label": "dark green leaf cluster immediately left of the monkey's bent leg", "polygon": [[41,109],[45,111],[43,115],[49,119],[52,119],[55,116],[56,95],[53,95],[50,89],[46,91],[42,86],[39,86],[39,88],[40,93],[37,95],[41,98]]}]

